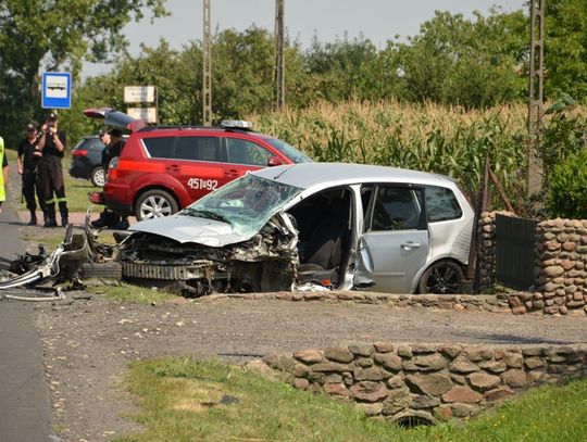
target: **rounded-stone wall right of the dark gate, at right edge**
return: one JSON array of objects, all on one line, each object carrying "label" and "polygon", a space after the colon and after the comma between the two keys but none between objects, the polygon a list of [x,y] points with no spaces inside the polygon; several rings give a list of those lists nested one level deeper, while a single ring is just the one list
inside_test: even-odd
[{"label": "rounded-stone wall right of the dark gate, at right edge", "polygon": [[587,220],[551,219],[536,228],[536,277],[547,314],[587,313]]}]

